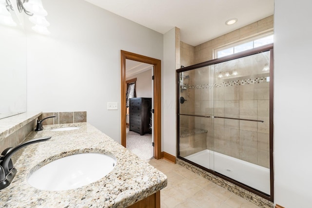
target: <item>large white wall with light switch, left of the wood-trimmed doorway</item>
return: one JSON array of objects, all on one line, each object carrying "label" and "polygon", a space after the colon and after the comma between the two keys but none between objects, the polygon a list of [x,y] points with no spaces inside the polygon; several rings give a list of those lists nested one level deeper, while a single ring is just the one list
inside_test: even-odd
[{"label": "large white wall with light switch, left of the wood-trimmed doorway", "polygon": [[51,35],[28,33],[27,111],[87,111],[120,143],[120,50],[162,60],[163,35],[84,0],[42,1]]}]

